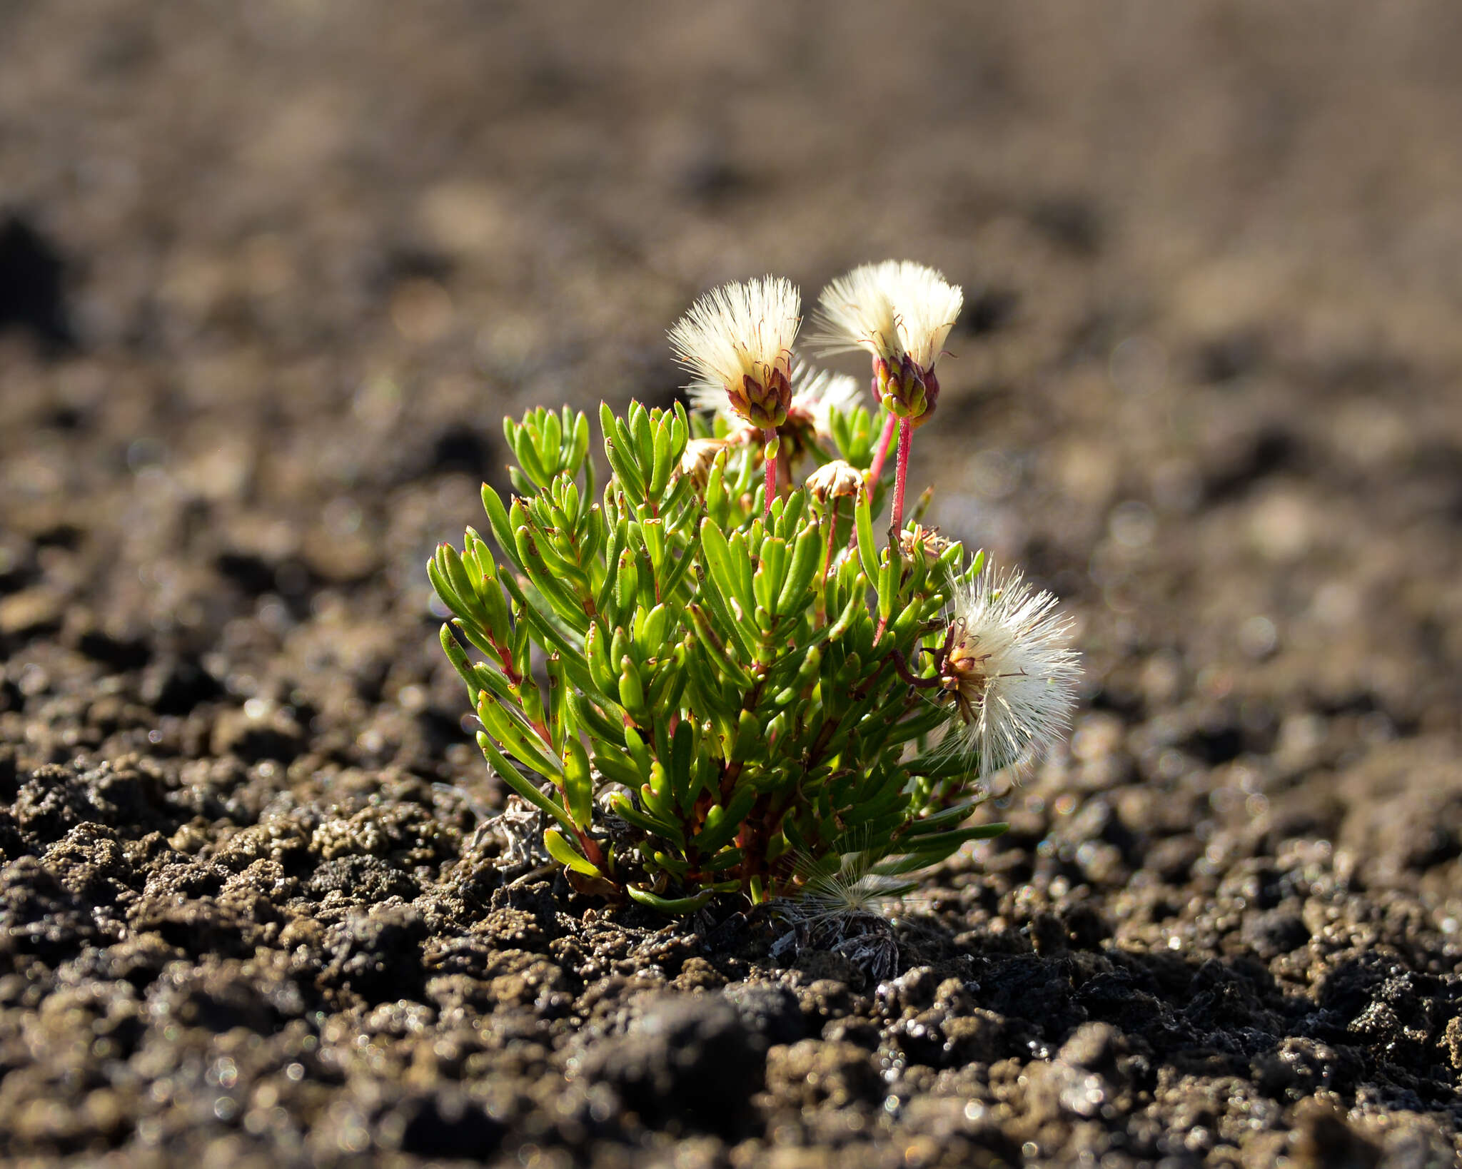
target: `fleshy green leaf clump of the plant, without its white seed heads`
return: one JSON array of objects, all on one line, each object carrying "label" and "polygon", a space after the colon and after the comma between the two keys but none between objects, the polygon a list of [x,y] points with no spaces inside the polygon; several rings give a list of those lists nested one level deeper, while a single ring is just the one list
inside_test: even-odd
[{"label": "fleshy green leaf clump of the plant, without its white seed heads", "polygon": [[[589,419],[529,411],[504,424],[513,495],[484,485],[487,533],[428,564],[477,742],[576,888],[686,913],[797,897],[849,855],[899,888],[1003,831],[966,823],[969,736],[942,742],[968,706],[952,606],[982,555],[912,522],[877,539],[880,422],[822,418],[763,447],[680,405],[601,406],[598,491]],[[792,459],[844,460],[823,481],[855,494],[787,491]]]}]

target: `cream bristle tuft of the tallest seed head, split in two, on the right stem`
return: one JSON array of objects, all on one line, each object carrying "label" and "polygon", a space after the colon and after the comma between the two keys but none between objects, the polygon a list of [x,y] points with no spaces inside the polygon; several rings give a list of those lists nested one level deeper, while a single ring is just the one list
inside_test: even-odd
[{"label": "cream bristle tuft of the tallest seed head, split in two, on the right stem", "polygon": [[896,365],[905,355],[928,373],[955,326],[965,294],[912,260],[855,267],[819,298],[814,340],[823,352],[866,349]]}]

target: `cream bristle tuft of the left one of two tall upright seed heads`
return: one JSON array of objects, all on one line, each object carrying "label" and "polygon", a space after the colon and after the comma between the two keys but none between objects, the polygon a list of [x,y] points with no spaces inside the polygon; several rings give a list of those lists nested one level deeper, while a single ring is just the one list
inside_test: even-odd
[{"label": "cream bristle tuft of the left one of two tall upright seed heads", "polygon": [[696,380],[692,402],[716,393],[721,409],[727,390],[751,377],[765,386],[772,370],[791,376],[792,340],[801,323],[801,294],[781,276],[734,281],[706,292],[670,330],[670,346]]}]

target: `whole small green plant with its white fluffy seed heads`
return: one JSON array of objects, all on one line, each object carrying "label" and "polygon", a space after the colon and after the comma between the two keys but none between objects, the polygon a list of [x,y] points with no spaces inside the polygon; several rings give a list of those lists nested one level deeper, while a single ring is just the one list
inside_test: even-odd
[{"label": "whole small green plant with its white fluffy seed heads", "polygon": [[671,332],[709,418],[601,405],[602,492],[583,414],[506,419],[515,494],[482,487],[491,544],[469,528],[428,563],[478,745],[582,891],[665,913],[823,896],[848,872],[896,893],[1003,831],[966,824],[982,780],[1064,728],[1077,671],[1053,598],[902,522],[958,289],[883,264],[829,298],[825,343],[873,355],[876,397],[794,362],[789,283],[727,285]]}]

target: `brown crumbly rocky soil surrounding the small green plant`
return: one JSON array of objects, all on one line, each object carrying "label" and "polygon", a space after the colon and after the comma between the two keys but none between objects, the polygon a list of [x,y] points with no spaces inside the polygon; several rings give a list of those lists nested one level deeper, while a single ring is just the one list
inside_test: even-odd
[{"label": "brown crumbly rocky soil surrounding the small green plant", "polygon": [[[1447,0],[0,4],[0,1151],[1453,1165],[1459,53]],[[423,566],[501,415],[665,403],[700,289],[887,254],[966,286],[915,475],[1077,615],[1069,750],[877,944],[499,864]]]}]

